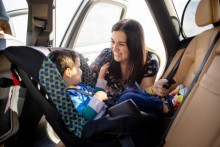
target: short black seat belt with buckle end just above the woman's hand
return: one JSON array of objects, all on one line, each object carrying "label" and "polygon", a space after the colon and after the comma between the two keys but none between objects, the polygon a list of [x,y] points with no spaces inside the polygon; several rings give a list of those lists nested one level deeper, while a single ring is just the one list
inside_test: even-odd
[{"label": "short black seat belt with buckle end just above the woman's hand", "polygon": [[179,59],[177,60],[176,64],[173,66],[172,70],[170,71],[169,75],[167,76],[167,80],[168,82],[166,84],[163,85],[163,88],[166,88],[166,89],[169,89],[171,85],[175,84],[176,81],[173,80],[173,76],[175,75],[178,67],[179,67],[179,64],[180,64],[180,61],[183,57],[183,54],[185,52],[186,49],[184,49],[184,51],[182,52],[182,54],[180,55]]}]

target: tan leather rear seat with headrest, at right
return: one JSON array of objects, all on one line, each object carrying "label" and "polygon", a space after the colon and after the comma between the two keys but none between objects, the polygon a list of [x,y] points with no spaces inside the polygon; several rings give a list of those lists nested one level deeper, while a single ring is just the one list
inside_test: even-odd
[{"label": "tan leather rear seat with headrest, at right", "polygon": [[[201,0],[197,12],[198,26],[219,24],[219,0]],[[209,46],[220,31],[217,26],[196,36],[188,45],[170,89],[191,84]],[[220,146],[220,41],[213,51],[165,138],[165,147]],[[166,77],[165,74],[164,77]]]}]

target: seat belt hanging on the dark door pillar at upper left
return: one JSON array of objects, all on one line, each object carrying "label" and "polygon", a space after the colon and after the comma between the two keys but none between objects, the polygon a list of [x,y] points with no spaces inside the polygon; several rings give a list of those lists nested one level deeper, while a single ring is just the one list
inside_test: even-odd
[{"label": "seat belt hanging on the dark door pillar at upper left", "polygon": [[45,19],[34,17],[32,21],[33,21],[34,29],[32,31],[32,35],[28,43],[29,46],[36,45],[40,33],[46,29],[46,25],[47,25],[47,20]]}]

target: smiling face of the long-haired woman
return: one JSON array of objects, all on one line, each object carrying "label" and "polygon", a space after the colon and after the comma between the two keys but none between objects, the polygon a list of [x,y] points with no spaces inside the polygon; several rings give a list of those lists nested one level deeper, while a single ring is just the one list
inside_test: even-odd
[{"label": "smiling face of the long-haired woman", "polygon": [[111,39],[111,48],[114,59],[120,63],[127,63],[129,51],[127,46],[127,37],[123,31],[113,31]]}]

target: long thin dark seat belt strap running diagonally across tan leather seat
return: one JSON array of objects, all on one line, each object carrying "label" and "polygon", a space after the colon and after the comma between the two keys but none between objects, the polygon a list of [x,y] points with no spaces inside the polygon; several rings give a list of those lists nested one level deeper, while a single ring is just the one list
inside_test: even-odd
[{"label": "long thin dark seat belt strap running diagonally across tan leather seat", "polygon": [[163,136],[162,136],[162,138],[161,138],[161,142],[160,142],[160,144],[158,145],[158,147],[162,147],[163,144],[165,143],[165,137],[166,137],[166,135],[167,135],[167,133],[168,133],[168,131],[169,131],[171,125],[173,124],[173,122],[174,122],[174,120],[175,120],[175,118],[176,118],[176,116],[177,116],[177,114],[178,114],[180,108],[182,107],[183,103],[185,102],[185,100],[186,100],[187,96],[189,95],[190,91],[193,89],[195,83],[198,81],[198,78],[199,78],[199,76],[200,76],[200,74],[201,74],[201,72],[202,72],[202,69],[204,68],[204,66],[205,66],[205,64],[206,64],[206,61],[208,60],[208,58],[209,58],[209,56],[210,56],[210,54],[211,54],[211,52],[212,52],[212,50],[213,50],[215,44],[216,44],[217,41],[219,40],[219,38],[220,38],[220,32],[217,33],[217,35],[215,36],[215,38],[214,38],[214,40],[213,40],[211,46],[209,47],[209,49],[208,49],[208,51],[207,51],[207,53],[206,53],[206,55],[205,55],[205,57],[204,57],[204,59],[203,59],[201,65],[200,65],[198,71],[196,72],[195,77],[193,78],[192,83],[190,84],[190,86],[189,86],[189,88],[188,88],[188,90],[187,90],[187,92],[186,92],[186,94],[185,94],[185,96],[184,96],[185,98],[183,99],[182,103],[180,103],[179,108],[177,109],[176,113],[175,113],[174,116],[172,117],[172,119],[171,119],[171,121],[170,121],[170,123],[169,123],[169,125],[168,125],[168,127],[167,127],[167,129],[166,129],[166,131],[164,132],[164,134],[163,134]]}]

